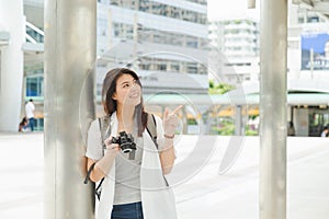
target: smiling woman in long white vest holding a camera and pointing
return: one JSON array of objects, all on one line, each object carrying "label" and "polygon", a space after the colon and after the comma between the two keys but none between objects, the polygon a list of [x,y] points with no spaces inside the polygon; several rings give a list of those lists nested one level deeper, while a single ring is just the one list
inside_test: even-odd
[{"label": "smiling woman in long white vest holding a camera and pointing", "polygon": [[[110,137],[104,140],[102,154],[101,130],[94,120],[88,132],[88,170],[94,164],[90,180],[105,177],[97,212],[98,219],[171,219],[177,218],[174,197],[167,186],[164,174],[174,163],[173,137],[178,125],[175,113],[166,108],[162,120],[155,116],[157,143],[146,130],[141,84],[138,76],[125,68],[107,72],[102,89],[104,112],[110,116]],[[136,150],[123,153],[112,138],[121,131],[132,134]]]}]

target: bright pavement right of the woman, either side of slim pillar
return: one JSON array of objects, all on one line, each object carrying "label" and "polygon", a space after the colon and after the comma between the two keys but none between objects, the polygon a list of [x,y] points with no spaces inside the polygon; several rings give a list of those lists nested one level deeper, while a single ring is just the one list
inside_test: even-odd
[{"label": "bright pavement right of the woman, either side of slim pillar", "polygon": [[[224,175],[218,168],[229,138],[219,137],[206,166],[175,188],[180,219],[259,218],[259,138],[247,137],[237,162]],[[287,139],[287,218],[329,216],[329,139]]]}]

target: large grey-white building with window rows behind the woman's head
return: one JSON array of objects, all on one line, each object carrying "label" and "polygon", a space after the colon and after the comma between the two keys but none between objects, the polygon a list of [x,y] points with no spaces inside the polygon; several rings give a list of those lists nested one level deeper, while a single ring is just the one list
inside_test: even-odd
[{"label": "large grey-white building with window rows behind the woman's head", "polygon": [[206,93],[206,0],[99,0],[99,91],[109,69],[128,66],[146,93]]}]

